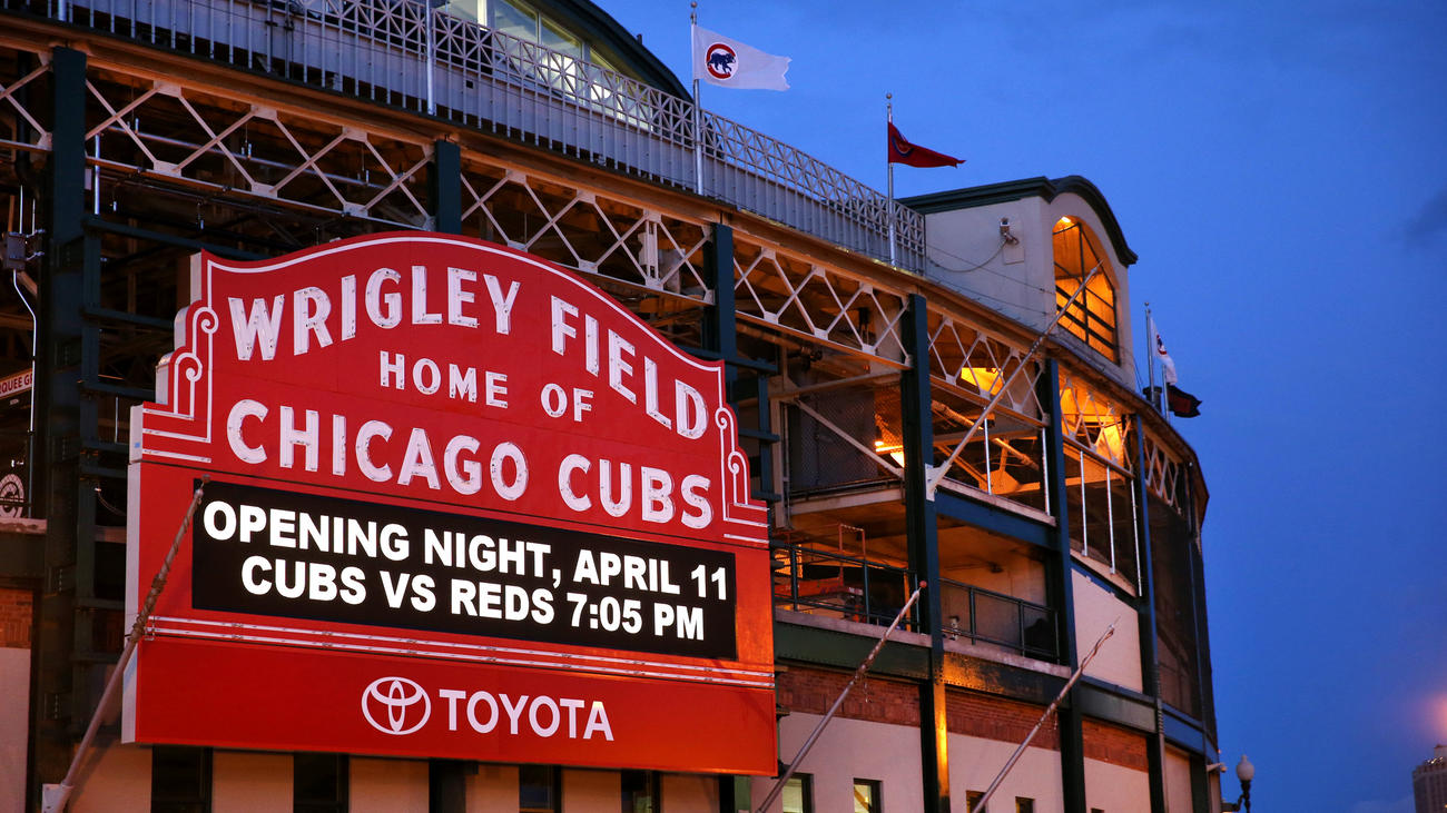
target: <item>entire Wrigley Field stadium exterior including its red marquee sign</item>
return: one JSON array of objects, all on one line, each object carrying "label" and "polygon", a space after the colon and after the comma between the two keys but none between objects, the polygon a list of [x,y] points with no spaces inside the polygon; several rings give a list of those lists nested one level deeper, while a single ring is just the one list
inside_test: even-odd
[{"label": "entire Wrigley Field stadium exterior including its red marquee sign", "polygon": [[[586,0],[0,9],[13,282],[0,297],[4,810],[41,809],[43,788],[68,775],[192,485],[211,496],[198,492],[210,502],[178,537],[181,576],[161,593],[171,609],[136,637],[139,670],[127,670],[124,697],[101,709],[98,736],[75,761],[72,810],[751,810],[922,583],[773,809],[968,810],[1116,622],[990,809],[1220,810],[1205,480],[1181,434],[1137,393],[1127,278],[1136,255],[1084,178],[890,201],[695,110],[679,80]],[[402,259],[383,268],[379,252]],[[356,259],[307,265],[323,255]],[[308,259],[266,265],[297,256]],[[259,268],[305,271],[281,284],[246,271]],[[266,279],[278,286],[223,294]],[[553,344],[538,327],[535,356],[504,349],[504,337],[534,327],[509,320],[509,291],[521,291],[518,314],[532,312],[524,308],[534,291],[551,298],[537,318],[551,320]],[[412,301],[391,311],[394,295]],[[288,312],[282,324],[282,305],[301,310],[295,323]],[[411,321],[386,333],[405,307]],[[444,336],[473,341],[459,331],[476,333],[479,320],[491,344],[447,356]],[[627,438],[593,435],[616,427],[569,435],[537,418],[517,430],[553,433],[544,446],[559,454],[592,450],[560,457],[557,511],[576,512],[563,519],[546,506],[511,508],[530,499],[519,496],[519,448],[534,451],[525,441],[492,450],[493,490],[469,479],[483,477],[488,460],[459,450],[493,431],[486,409],[430,417],[412,435],[425,430],[430,441],[388,446],[404,418],[383,431],[379,420],[362,424],[368,409],[424,406],[359,383],[375,388],[375,353],[370,367],[340,353],[369,341],[368,331],[399,337],[382,350],[383,385],[431,393],[451,370],[453,399],[493,406],[506,406],[508,382],[518,402],[534,359],[544,372],[574,363],[569,380],[593,376],[598,409],[635,408],[625,421],[645,428],[628,431],[650,440],[638,441],[647,454],[637,472],[647,473],[632,482],[657,499],[640,496],[632,516],[638,503],[609,492],[606,476],[634,472],[603,474],[627,450],[605,459],[598,444]],[[246,367],[207,391],[220,408],[236,382],[255,388],[243,386],[224,430],[217,411],[217,437],[230,440],[218,448],[279,467],[208,469],[178,451],[184,433],[165,428],[178,404],[198,398],[185,388],[211,380],[187,372],[207,336],[223,350],[234,337],[239,363],[313,352],[305,365]],[[431,360],[444,356],[451,367]],[[489,378],[505,367],[511,379]],[[742,464],[690,486],[671,477],[671,463],[650,463],[663,450],[658,460],[677,451],[689,466],[687,441],[719,428],[690,412],[712,404],[710,375],[732,409],[716,412],[722,451],[699,460],[747,459],[737,499],[716,503],[728,516],[713,499]],[[305,379],[318,378],[331,382],[323,428],[291,401],[260,395],[314,395]],[[559,388],[537,408],[586,411],[579,389]],[[272,431],[279,440],[260,440]],[[370,440],[349,446],[363,433]],[[333,451],[318,463],[328,438]],[[436,466],[423,460],[433,450]],[[551,488],[553,472],[530,460]],[[184,486],[179,501],[153,496],[172,480]],[[450,502],[428,496],[447,483]],[[313,583],[308,596],[328,605],[275,609],[282,599],[256,596],[281,590],[282,579],[263,576],[297,564],[285,551],[239,564],[236,583],[213,579],[201,558],[203,531],[234,537],[253,503],[271,506],[271,545],[291,548],[278,516],[326,509],[385,528],[462,516],[482,528],[472,540],[489,544],[486,522],[522,516],[554,534],[547,556],[587,553],[573,577],[598,593],[573,593],[574,612],[541,582],[525,593],[501,576],[473,579],[466,595],[454,587],[454,615],[495,606],[525,621],[527,609],[511,615],[522,596],[534,626],[469,637],[385,606],[366,618],[334,612],[347,609],[347,586],[391,579],[360,563],[353,582],[341,569],[336,582]],[[715,538],[715,519],[739,524]],[[674,521],[708,527],[689,537]],[[428,540],[441,550],[440,537]],[[381,545],[391,550],[385,534]],[[211,564],[230,556],[221,547]],[[514,551],[519,569],[537,561],[540,573],[509,577],[543,577],[543,550]],[[464,556],[459,541],[451,564],[506,574],[505,545],[496,554],[473,545]],[[585,567],[605,561],[637,564],[635,579],[608,593],[606,577]],[[674,582],[692,589],[686,566],[696,567],[699,600],[718,603],[653,606],[650,622],[676,629],[677,645],[585,634],[589,621],[628,628],[629,608],[648,606],[628,603],[638,596],[677,595]],[[237,583],[246,590],[230,596]],[[724,600],[726,586],[737,600]],[[488,605],[489,589],[506,600]],[[414,595],[420,612],[424,597]],[[557,632],[570,612],[577,631]],[[366,671],[378,663],[392,671]],[[453,683],[414,680],[424,674]],[[602,700],[572,699],[574,677],[587,691],[631,694],[608,700],[605,713]],[[288,694],[349,680],[365,689],[337,694],[352,718],[372,720],[375,732],[356,729],[372,739],[352,738],[346,726],[360,722],[333,726]],[[532,689],[531,700],[496,689],[519,684],[560,689]],[[217,686],[227,690],[204,696]],[[451,728],[407,739],[423,725],[407,715],[424,700],[431,725],[450,713]],[[629,720],[653,719],[651,706],[682,710],[658,712],[628,739]],[[512,739],[498,741],[509,722]],[[459,729],[472,739],[444,736]]]}]

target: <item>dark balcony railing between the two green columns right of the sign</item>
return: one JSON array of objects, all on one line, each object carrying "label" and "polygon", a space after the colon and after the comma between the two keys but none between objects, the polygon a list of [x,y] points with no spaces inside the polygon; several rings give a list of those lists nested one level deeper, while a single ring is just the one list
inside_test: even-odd
[{"label": "dark balcony railing between the two green columns right of the sign", "polygon": [[949,579],[939,584],[946,637],[994,644],[1042,661],[1059,657],[1051,608]]}]

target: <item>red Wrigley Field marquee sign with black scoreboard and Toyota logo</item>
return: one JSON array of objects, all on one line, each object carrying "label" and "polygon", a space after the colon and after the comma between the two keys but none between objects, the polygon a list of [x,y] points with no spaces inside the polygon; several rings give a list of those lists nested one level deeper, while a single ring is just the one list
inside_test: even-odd
[{"label": "red Wrigley Field marquee sign with black scoreboard and Toyota logo", "polygon": [[127,741],[776,771],[722,367],[572,273],[398,233],[192,263],[132,411]]}]

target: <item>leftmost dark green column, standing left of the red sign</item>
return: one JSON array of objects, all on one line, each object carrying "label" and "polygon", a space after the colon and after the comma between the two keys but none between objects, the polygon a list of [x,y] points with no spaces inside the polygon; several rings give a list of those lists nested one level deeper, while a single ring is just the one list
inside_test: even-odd
[{"label": "leftmost dark green column, standing left of the red sign", "polygon": [[[49,243],[39,279],[36,341],[35,506],[46,522],[45,584],[36,608],[30,697],[32,806],[42,783],[65,775],[75,728],[75,706],[87,687],[77,680],[77,554],[94,544],[94,528],[80,506],[81,389],[85,236],[85,55],[56,48],[51,61],[55,123],[51,136],[48,201]],[[85,534],[87,537],[81,537]],[[88,576],[88,574],[87,574]]]}]

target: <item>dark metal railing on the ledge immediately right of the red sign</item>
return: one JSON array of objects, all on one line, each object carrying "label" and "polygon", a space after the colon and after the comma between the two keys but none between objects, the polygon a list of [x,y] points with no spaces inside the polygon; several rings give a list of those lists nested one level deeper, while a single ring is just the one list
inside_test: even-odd
[{"label": "dark metal railing on the ledge immediately right of the red sign", "polygon": [[[888,626],[917,580],[906,567],[774,541],[774,606]],[[919,628],[917,612],[901,623]]]}]

